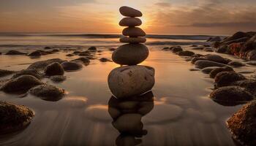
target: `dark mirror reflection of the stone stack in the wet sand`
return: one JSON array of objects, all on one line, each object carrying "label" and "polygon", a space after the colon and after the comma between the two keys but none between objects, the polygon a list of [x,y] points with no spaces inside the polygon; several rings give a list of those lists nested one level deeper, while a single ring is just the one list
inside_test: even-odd
[{"label": "dark mirror reflection of the stone stack in the wet sand", "polygon": [[138,145],[148,132],[143,129],[141,118],[154,107],[152,92],[129,99],[111,97],[108,101],[108,112],[113,118],[113,126],[120,132],[116,145]]}]

